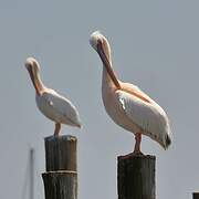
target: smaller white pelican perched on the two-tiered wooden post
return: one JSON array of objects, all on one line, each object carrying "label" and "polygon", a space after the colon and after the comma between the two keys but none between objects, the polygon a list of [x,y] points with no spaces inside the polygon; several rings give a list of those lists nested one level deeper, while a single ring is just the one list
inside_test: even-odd
[{"label": "smaller white pelican perched on the two-tiered wooden post", "polygon": [[40,65],[33,57],[28,57],[25,67],[35,88],[35,101],[39,109],[48,118],[55,122],[54,135],[57,136],[61,124],[81,127],[80,116],[75,106],[55,91],[44,86],[40,78]]}]

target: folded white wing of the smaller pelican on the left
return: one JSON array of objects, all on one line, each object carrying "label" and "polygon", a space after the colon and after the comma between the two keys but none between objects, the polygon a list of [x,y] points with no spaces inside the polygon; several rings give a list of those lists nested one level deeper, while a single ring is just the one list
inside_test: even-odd
[{"label": "folded white wing of the smaller pelican on the left", "polygon": [[41,101],[39,108],[45,116],[55,122],[81,127],[78,112],[67,98],[49,90],[42,94]]}]

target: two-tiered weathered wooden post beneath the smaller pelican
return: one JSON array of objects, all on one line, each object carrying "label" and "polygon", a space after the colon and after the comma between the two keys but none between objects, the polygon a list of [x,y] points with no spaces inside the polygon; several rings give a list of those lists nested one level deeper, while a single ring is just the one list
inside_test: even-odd
[{"label": "two-tiered weathered wooden post beneath the smaller pelican", "polygon": [[77,199],[76,137],[45,138],[45,199]]}]

